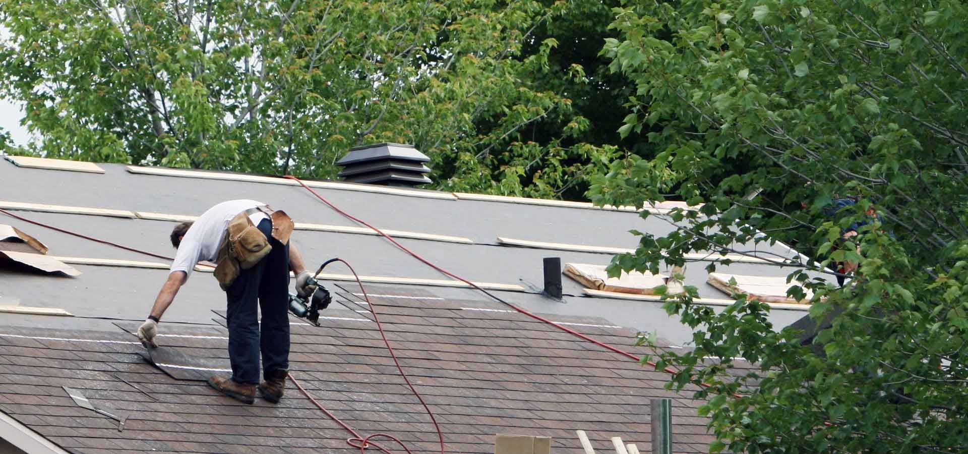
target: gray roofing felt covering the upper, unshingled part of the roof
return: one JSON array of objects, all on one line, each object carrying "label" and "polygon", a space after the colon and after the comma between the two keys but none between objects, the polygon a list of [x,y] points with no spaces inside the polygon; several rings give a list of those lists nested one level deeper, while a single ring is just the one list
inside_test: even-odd
[{"label": "gray roofing felt covering the upper, unshingled part of the roof", "polygon": [[[198,215],[219,201],[255,198],[285,209],[298,223],[356,226],[300,187],[134,174],[121,165],[101,165],[105,174],[16,167],[0,161],[0,201],[149,211]],[[584,296],[582,287],[563,278],[565,297],[556,301],[537,294],[542,287],[542,257],[561,257],[562,262],[606,264],[605,254],[548,251],[499,246],[498,236],[533,241],[575,243],[634,248],[631,228],[662,234],[673,227],[657,217],[643,220],[636,213],[515,204],[498,201],[447,200],[405,197],[343,190],[316,190],[350,214],[377,227],[468,237],[474,244],[399,239],[402,244],[442,267],[471,281],[518,284],[527,292],[497,291],[512,303],[544,314],[594,316],[643,331],[654,331],[673,343],[691,338],[690,330],[666,315],[661,303]],[[17,211],[28,219],[104,238],[155,254],[173,255],[168,233],[173,223],[104,216],[65,215]],[[62,257],[123,258],[164,261],[76,238],[65,233],[0,216],[10,224],[43,241],[49,255]],[[409,257],[385,239],[374,235],[297,230],[293,241],[300,246],[309,266],[329,257],[347,259],[360,274],[424,279],[446,279],[437,271]],[[752,250],[753,248],[748,248]],[[759,251],[789,257],[792,253],[773,246]],[[83,272],[75,279],[0,271],[0,295],[25,306],[64,308],[78,317],[58,319],[57,326],[112,329],[107,319],[143,319],[166,278],[164,269],[74,265]],[[706,284],[705,263],[686,268],[686,283],[700,288],[705,297],[725,295]],[[787,267],[757,263],[717,266],[718,271],[761,276],[786,276]],[[331,265],[327,272],[348,274]],[[346,283],[344,283],[346,285]],[[433,288],[446,297],[479,299],[469,289]],[[210,323],[210,310],[223,309],[225,296],[209,273],[195,273],[166,313],[166,321]],[[777,328],[801,318],[800,311],[773,310]],[[5,316],[4,324],[51,326],[50,318]]]}]

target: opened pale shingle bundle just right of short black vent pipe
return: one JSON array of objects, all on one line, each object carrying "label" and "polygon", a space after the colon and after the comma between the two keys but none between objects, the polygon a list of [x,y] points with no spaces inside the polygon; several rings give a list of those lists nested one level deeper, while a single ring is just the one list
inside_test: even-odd
[{"label": "opened pale shingle bundle just right of short black vent pipe", "polygon": [[[672,274],[681,274],[681,268],[674,268]],[[667,286],[667,294],[682,292],[682,284],[664,274],[622,272],[618,278],[608,277],[605,265],[589,263],[565,263],[564,275],[568,276],[586,288],[603,291],[617,291],[620,293],[658,294],[655,288]]]}]

